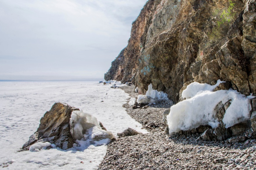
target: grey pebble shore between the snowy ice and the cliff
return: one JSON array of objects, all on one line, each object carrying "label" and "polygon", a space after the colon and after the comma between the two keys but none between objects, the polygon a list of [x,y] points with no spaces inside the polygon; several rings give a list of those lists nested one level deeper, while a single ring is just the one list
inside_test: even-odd
[{"label": "grey pebble shore between the snowy ice and the cliff", "polygon": [[[131,97],[137,97],[134,86],[121,87]],[[162,123],[163,111],[173,105],[171,100],[132,109],[123,105],[127,113],[143,126]],[[165,125],[146,128],[149,133],[117,138],[108,145],[107,154],[99,170],[109,169],[256,169],[256,140],[230,144],[226,141],[195,141],[200,134],[169,136]]]}]

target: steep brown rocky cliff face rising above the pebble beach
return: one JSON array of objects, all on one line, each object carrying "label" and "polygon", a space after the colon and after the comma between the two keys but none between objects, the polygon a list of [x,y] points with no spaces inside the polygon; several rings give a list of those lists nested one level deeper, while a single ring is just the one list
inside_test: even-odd
[{"label": "steep brown rocky cliff face rising above the pebble beach", "polygon": [[134,76],[140,94],[152,83],[175,102],[193,81],[221,79],[256,93],[255,6],[255,0],[149,0],[105,79]]}]

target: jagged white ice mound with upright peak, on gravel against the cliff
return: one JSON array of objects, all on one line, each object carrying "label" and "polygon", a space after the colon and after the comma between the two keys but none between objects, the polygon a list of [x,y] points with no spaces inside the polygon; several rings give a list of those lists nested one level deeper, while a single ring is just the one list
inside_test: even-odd
[{"label": "jagged white ice mound with upright peak, on gravel against the cliff", "polygon": [[138,95],[137,102],[143,104],[154,103],[156,100],[167,100],[168,96],[164,92],[153,90],[152,84],[148,85],[146,95]]}]

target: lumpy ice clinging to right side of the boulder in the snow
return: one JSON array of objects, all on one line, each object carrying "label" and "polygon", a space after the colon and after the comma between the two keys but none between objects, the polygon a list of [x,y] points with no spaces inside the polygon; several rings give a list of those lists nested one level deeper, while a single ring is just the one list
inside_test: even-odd
[{"label": "lumpy ice clinging to right side of the boulder in the snow", "polygon": [[75,110],[70,118],[70,132],[74,140],[81,140],[84,134],[90,136],[90,140],[99,141],[102,139],[112,139],[115,136],[110,131],[102,130],[96,117],[84,113],[82,110]]}]

